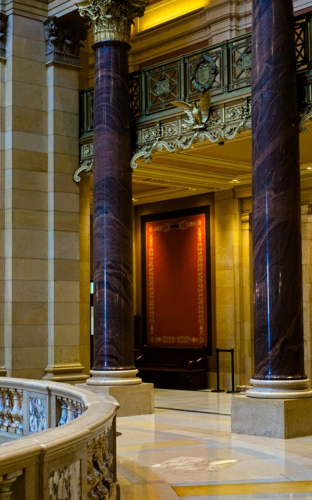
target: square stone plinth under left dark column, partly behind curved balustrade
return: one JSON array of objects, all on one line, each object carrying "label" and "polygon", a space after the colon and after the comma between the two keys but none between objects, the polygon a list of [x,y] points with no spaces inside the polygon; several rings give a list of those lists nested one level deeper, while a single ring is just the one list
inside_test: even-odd
[{"label": "square stone plinth under left dark column, partly behind curved balustrade", "polygon": [[154,413],[154,384],[140,383],[136,385],[80,385],[99,394],[113,396],[120,404],[119,416],[147,415]]}]

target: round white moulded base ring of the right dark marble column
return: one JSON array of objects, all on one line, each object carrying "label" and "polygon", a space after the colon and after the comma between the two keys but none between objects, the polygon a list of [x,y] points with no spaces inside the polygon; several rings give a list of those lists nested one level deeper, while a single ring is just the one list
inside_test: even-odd
[{"label": "round white moulded base ring of the right dark marble column", "polygon": [[263,397],[272,399],[297,399],[311,397],[309,378],[304,380],[257,380],[251,378],[253,387],[246,391],[248,397]]}]

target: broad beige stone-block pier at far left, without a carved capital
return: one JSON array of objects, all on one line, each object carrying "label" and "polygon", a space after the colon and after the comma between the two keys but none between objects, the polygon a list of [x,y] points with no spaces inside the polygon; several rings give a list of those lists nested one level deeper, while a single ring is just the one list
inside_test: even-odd
[{"label": "broad beige stone-block pier at far left, without a carved capital", "polygon": [[4,351],[7,375],[29,378],[41,378],[47,364],[45,51],[42,22],[10,13],[1,156],[1,170],[3,155],[5,166]]}]

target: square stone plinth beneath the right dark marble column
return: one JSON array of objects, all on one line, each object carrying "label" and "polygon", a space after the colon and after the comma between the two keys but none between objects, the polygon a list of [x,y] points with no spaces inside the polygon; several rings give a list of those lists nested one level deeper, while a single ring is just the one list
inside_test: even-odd
[{"label": "square stone plinth beneath the right dark marble column", "polygon": [[312,397],[298,399],[232,396],[231,430],[238,434],[289,439],[312,435]]}]

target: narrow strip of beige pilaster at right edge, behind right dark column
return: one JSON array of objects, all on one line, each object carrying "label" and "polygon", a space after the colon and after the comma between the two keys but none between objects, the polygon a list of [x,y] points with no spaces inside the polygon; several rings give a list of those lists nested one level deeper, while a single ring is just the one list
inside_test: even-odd
[{"label": "narrow strip of beige pilaster at right edge, behind right dark column", "polygon": [[312,205],[301,206],[305,372],[312,379]]}]

